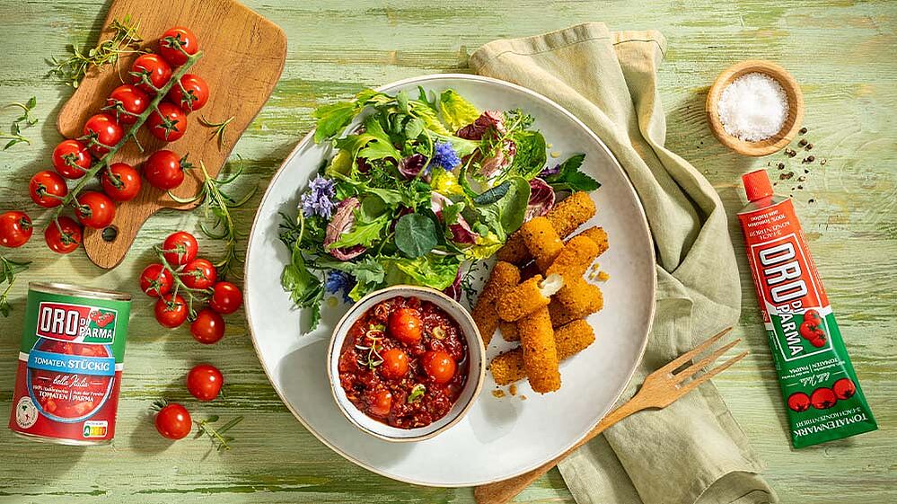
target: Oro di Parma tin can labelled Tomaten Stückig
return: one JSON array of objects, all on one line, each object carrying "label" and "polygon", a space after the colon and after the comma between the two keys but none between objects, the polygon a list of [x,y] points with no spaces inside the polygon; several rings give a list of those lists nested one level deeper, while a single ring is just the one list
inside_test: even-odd
[{"label": "Oro di Parma tin can labelled Tomaten St\u00fcckig", "polygon": [[9,428],[61,445],[115,435],[131,296],[31,282]]}]

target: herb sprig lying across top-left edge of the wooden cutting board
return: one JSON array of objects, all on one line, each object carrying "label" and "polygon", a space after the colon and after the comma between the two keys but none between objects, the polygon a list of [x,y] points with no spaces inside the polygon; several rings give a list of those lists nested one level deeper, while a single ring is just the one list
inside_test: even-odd
[{"label": "herb sprig lying across top-left edge of the wooden cutting board", "polygon": [[111,39],[102,40],[95,48],[86,52],[74,44],[69,46],[70,56],[65,59],[53,57],[48,61],[52,66],[49,75],[56,75],[65,84],[76,88],[91,66],[118,65],[122,55],[149,52],[140,49],[140,42],[143,40],[137,33],[139,28],[140,22],[132,21],[130,15],[121,21],[113,20],[109,26],[112,31]]}]

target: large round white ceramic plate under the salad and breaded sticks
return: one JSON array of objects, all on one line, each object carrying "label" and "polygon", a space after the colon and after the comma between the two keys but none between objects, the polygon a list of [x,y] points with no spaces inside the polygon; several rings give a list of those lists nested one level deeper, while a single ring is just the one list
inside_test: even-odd
[{"label": "large round white ceramic plate under the salad and breaded sticks", "polygon": [[[587,225],[602,225],[610,236],[611,248],[599,259],[610,279],[602,284],[604,309],[589,318],[597,340],[561,365],[561,389],[540,395],[522,383],[517,396],[497,398],[487,373],[468,415],[452,429],[418,443],[383,441],[349,423],[333,400],[326,370],[330,332],[347,306],[325,308],[318,330],[302,335],[299,328],[307,323],[307,314],[293,307],[279,280],[289,253],[277,238],[277,212],[295,212],[299,190],[330,153],[329,146],[314,145],[312,134],[286,158],[256,214],[246,257],[246,315],[268,379],[321,442],[396,480],[472,486],[544,464],[585,436],[611,408],[645,349],[654,314],[654,248],[644,211],[620,165],[594,133],[558,104],[523,87],[476,75],[426,75],[382,89],[416,95],[418,85],[436,93],[454,89],[480,110],[523,109],[536,119],[535,128],[552,144],[550,151],[559,153],[558,161],[585,153],[583,169],[602,182],[592,195],[598,214]],[[504,349],[501,337],[494,338],[488,358]]]}]

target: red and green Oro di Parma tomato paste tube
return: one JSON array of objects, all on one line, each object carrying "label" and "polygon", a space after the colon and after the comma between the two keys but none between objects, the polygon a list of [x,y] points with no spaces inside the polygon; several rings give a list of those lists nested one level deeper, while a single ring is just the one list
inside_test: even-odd
[{"label": "red and green Oro di Parma tomato paste tube", "polygon": [[765,170],[742,177],[738,214],[795,448],[878,429],[791,199]]}]

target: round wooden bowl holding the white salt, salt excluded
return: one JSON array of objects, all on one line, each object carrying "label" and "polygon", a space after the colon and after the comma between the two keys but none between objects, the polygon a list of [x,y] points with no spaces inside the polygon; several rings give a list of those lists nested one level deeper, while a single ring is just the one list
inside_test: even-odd
[{"label": "round wooden bowl holding the white salt, salt excluded", "polygon": [[[782,86],[788,97],[788,117],[781,130],[772,137],[757,142],[747,142],[726,133],[723,123],[719,120],[717,105],[726,86],[738,77],[754,72],[769,75]],[[710,130],[721,144],[742,155],[770,155],[778,152],[794,139],[797,129],[800,128],[801,121],[804,119],[804,93],[801,93],[797,81],[785,68],[771,61],[751,59],[726,68],[717,77],[717,80],[710,86],[705,108]]]}]

